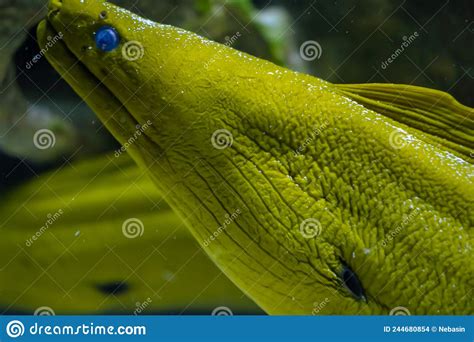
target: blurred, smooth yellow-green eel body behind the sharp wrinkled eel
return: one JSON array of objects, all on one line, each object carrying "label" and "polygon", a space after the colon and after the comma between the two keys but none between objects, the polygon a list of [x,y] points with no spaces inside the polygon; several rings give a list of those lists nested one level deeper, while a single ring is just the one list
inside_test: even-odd
[{"label": "blurred, smooth yellow-green eel body behind the sharp wrinkled eel", "polygon": [[42,175],[2,196],[0,217],[0,312],[260,312],[126,155]]}]

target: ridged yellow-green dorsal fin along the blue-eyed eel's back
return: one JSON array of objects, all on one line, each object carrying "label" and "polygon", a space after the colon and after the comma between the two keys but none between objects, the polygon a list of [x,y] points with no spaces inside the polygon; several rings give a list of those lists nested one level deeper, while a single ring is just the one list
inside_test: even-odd
[{"label": "ridged yellow-green dorsal fin along the blue-eyed eel's back", "polygon": [[395,121],[429,135],[458,156],[472,162],[474,108],[448,93],[405,84],[338,84],[345,96]]}]

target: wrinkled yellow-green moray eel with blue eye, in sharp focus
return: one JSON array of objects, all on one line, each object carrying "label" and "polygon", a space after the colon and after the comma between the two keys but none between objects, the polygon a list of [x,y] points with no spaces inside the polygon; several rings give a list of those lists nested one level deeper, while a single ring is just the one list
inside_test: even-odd
[{"label": "wrinkled yellow-green moray eel with blue eye, in sharp focus", "polygon": [[471,108],[333,85],[107,2],[49,6],[50,63],[267,313],[474,313]]}]

